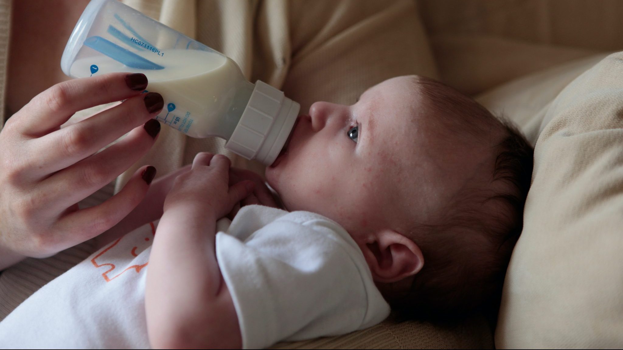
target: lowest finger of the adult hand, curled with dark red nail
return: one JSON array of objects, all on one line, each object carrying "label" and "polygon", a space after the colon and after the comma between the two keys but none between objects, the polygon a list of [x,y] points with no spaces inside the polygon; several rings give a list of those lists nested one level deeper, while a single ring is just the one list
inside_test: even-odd
[{"label": "lowest finger of the adult hand, curled with dark red nail", "polygon": [[133,174],[120,192],[107,201],[62,217],[57,225],[57,232],[62,232],[59,245],[72,247],[117,225],[143,200],[154,176],[156,168],[144,166]]}]

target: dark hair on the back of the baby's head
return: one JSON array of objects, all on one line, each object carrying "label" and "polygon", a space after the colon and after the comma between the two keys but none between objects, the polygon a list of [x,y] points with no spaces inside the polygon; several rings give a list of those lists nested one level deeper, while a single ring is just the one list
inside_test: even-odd
[{"label": "dark hair on the back of the baby's head", "polygon": [[523,228],[534,150],[515,127],[471,98],[429,78],[414,77],[414,82],[452,135],[492,144],[495,161],[488,178],[476,185],[466,182],[438,217],[413,226],[407,237],[422,250],[424,267],[411,288],[389,286],[385,296],[394,311],[409,318],[444,318],[486,304],[497,307]]}]

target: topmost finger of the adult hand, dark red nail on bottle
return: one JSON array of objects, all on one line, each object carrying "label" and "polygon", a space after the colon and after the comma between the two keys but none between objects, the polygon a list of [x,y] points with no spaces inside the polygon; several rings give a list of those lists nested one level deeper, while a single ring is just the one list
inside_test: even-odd
[{"label": "topmost finger of the adult hand, dark red nail on bottle", "polygon": [[12,116],[24,135],[39,137],[55,130],[75,112],[133,97],[147,87],[141,73],[109,73],[58,83]]}]

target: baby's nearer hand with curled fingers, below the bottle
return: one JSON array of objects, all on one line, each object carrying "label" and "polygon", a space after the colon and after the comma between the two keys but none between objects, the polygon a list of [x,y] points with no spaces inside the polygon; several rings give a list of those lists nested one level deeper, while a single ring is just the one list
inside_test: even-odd
[{"label": "baby's nearer hand with curled fingers, below the bottle", "polygon": [[235,204],[252,194],[253,181],[240,181],[229,186],[229,166],[226,156],[199,153],[193,168],[181,174],[164,201],[164,212],[181,210],[206,219],[218,220],[229,213]]}]

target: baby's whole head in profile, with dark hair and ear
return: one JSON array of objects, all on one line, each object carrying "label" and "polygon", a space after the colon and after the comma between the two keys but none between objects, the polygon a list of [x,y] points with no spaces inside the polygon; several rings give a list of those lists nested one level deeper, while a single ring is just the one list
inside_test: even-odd
[{"label": "baby's whole head in profile, with dark hair and ear", "polygon": [[439,315],[498,295],[532,157],[514,128],[472,99],[408,76],[352,106],[314,103],[266,177],[288,210],[348,231],[392,306]]}]

